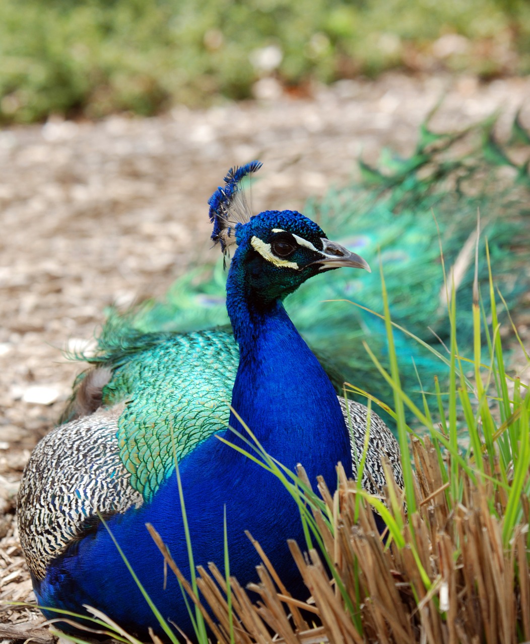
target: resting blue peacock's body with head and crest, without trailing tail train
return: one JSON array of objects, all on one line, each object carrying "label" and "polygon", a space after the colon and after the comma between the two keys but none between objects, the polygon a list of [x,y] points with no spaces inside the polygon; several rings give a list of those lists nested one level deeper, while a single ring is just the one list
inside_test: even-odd
[{"label": "resting blue peacock's body with head and crest, without trailing tail train", "polygon": [[231,329],[143,332],[127,316],[111,318],[65,422],[26,465],[19,534],[48,618],[86,614],[89,605],[148,636],[152,609],[115,539],[162,616],[193,639],[179,584],[166,579],[145,527],[157,529],[190,578],[180,491],[196,565],[222,563],[226,512],[230,573],[242,584],[257,580],[250,531],[288,589],[307,597],[286,545],[304,542],[297,506],[280,480],[242,453],[247,428],[271,457],[290,469],[302,463],[310,481],[322,475],[333,491],[337,462],[357,476],[369,422],[364,487],[377,493],[384,485],[384,456],[402,485],[391,431],[337,396],[283,305],[309,278],[340,267],[369,271],[368,263],[297,211],[252,215],[242,181],[260,165],[231,169],[209,201],[213,242],[225,259],[237,245],[226,280]]}]

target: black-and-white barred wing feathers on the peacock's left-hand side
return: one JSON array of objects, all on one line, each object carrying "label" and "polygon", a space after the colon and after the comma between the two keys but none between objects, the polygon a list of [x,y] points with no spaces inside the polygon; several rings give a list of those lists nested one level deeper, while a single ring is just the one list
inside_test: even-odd
[{"label": "black-and-white barred wing feathers on the peacock's left-hand side", "polygon": [[18,496],[19,533],[37,579],[50,561],[86,534],[98,513],[113,515],[143,503],[119,457],[121,410],[123,405],[100,409],[60,425],[37,444],[26,464]]}]

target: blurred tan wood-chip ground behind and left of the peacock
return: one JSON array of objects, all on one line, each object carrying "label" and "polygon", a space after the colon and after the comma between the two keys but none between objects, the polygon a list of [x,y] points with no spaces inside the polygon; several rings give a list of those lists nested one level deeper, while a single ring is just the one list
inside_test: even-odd
[{"label": "blurred tan wood-chip ground behind and left of the peacock", "polygon": [[[304,98],[275,96],[273,81],[264,89],[274,99],[0,131],[0,601],[33,598],[15,497],[81,370],[61,350],[90,342],[106,305],[161,296],[191,263],[216,258],[206,201],[230,166],[264,162],[255,209],[302,209],[355,176],[360,153],[375,162],[385,145],[411,152],[442,96],[435,129],[500,110],[502,135],[520,107],[530,126],[530,78],[391,74]],[[30,630],[41,619],[0,607],[0,639],[50,641]]]}]

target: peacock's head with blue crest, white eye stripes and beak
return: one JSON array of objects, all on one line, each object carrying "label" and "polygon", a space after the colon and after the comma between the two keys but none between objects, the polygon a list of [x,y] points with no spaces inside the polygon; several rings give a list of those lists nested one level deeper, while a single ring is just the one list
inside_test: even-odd
[{"label": "peacock's head with blue crest, white eye stripes and beak", "polygon": [[[320,226],[296,211],[264,211],[251,215],[240,189],[242,178],[257,171],[257,161],[231,169],[225,186],[211,196],[212,239],[225,254],[237,250],[230,277],[244,283],[255,303],[271,303],[295,291],[306,279],[327,270],[353,267],[370,270],[368,263],[336,242]],[[229,283],[230,283],[229,278]]]}]

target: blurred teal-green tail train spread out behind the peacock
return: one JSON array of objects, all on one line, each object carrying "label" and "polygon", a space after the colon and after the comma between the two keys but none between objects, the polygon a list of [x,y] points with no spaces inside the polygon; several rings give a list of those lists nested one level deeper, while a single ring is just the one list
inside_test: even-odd
[{"label": "blurred teal-green tail train spread out behind the peacock", "polygon": [[[362,345],[366,341],[386,363],[384,323],[344,301],[346,297],[382,312],[378,261],[393,321],[441,354],[447,353],[449,321],[440,245],[447,281],[454,281],[456,289],[459,350],[464,355],[471,350],[477,212],[479,284],[488,280],[487,240],[495,282],[508,307],[516,307],[529,290],[530,137],[516,118],[511,140],[501,146],[494,126],[490,119],[458,134],[436,134],[426,122],[413,155],[400,158],[384,151],[378,169],[361,162],[360,182],[307,205],[310,218],[368,258],[374,269],[369,279],[329,272],[306,283],[286,302],[337,388],[346,380],[391,400]],[[210,269],[191,270],[171,287],[165,301],[146,302],[125,316],[113,312],[100,338],[101,348],[128,334],[227,325],[225,282],[221,260]],[[124,331],[126,327],[130,328]],[[433,377],[443,379],[446,374],[444,363],[405,334],[398,333],[396,341],[404,388],[420,390],[419,375],[424,390],[432,390]]]}]

